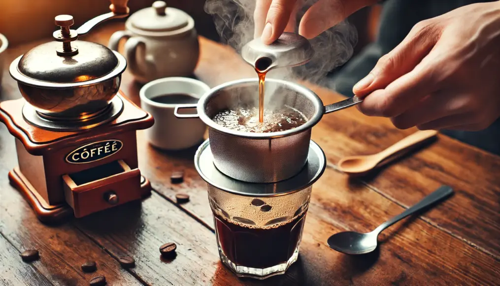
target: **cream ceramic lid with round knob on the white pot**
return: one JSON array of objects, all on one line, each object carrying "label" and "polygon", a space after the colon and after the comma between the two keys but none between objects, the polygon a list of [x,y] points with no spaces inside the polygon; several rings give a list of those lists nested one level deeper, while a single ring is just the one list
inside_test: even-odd
[{"label": "cream ceramic lid with round knob on the white pot", "polygon": [[192,22],[187,13],[166,7],[163,1],[156,1],[151,7],[141,9],[128,19],[135,29],[147,32],[170,32],[182,29]]}]

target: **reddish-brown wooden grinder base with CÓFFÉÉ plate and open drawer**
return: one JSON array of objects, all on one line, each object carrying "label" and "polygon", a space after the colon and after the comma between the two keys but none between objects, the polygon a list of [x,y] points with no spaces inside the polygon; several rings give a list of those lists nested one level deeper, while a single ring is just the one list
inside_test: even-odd
[{"label": "reddish-brown wooden grinder base with C\u00d3FF\u00c9\u00c9 plate and open drawer", "polygon": [[150,194],[138,169],[136,131],[154,119],[121,92],[113,100],[111,110],[122,110],[117,117],[75,131],[31,124],[23,116],[24,99],[0,103],[0,121],[15,137],[18,165],[10,183],[40,221],[79,218]]}]

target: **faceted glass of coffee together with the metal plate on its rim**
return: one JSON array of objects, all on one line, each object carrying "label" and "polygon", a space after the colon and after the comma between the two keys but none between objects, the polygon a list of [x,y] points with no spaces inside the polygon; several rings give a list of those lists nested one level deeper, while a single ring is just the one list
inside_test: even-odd
[{"label": "faceted glass of coffee together with the metal plate on its rim", "polygon": [[217,170],[205,141],[195,167],[208,183],[220,260],[240,277],[284,273],[297,260],[312,183],[324,166],[324,153],[311,141],[297,175],[276,183],[243,182]]}]

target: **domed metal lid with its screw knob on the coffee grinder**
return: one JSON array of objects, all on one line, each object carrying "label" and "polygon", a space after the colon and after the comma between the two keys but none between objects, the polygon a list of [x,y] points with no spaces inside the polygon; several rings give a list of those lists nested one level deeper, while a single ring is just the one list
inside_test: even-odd
[{"label": "domed metal lid with its screw knob on the coffee grinder", "polygon": [[75,41],[78,33],[69,30],[71,16],[59,15],[55,24],[61,29],[53,33],[54,42],[41,44],[10,64],[10,75],[16,81],[66,89],[107,81],[123,73],[126,60],[119,53],[97,43]]}]

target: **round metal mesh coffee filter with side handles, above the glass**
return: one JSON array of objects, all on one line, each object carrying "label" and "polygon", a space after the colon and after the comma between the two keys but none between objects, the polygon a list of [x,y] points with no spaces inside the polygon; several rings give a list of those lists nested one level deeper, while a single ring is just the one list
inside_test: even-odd
[{"label": "round metal mesh coffee filter with side handles, above the glass", "polygon": [[[244,79],[211,89],[197,105],[179,105],[175,116],[199,117],[208,126],[213,164],[225,175],[252,183],[270,183],[296,175],[307,162],[311,128],[329,113],[352,105],[352,98],[323,106],[311,90],[295,83],[267,79],[265,95],[269,106],[288,106],[301,112],[307,122],[280,132],[251,133],[222,127],[212,121],[219,111],[258,106],[258,81]],[[196,107],[197,114],[179,114],[179,109]]]}]

